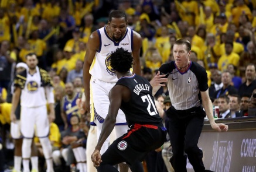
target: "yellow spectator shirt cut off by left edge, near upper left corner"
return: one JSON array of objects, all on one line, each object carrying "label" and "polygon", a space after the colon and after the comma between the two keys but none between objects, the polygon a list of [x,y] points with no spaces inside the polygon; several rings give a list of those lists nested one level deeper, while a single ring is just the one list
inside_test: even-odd
[{"label": "yellow spectator shirt cut off by left edge, near upper left corner", "polygon": [[10,41],[10,23],[8,17],[3,17],[0,19],[0,43],[4,40]]}]

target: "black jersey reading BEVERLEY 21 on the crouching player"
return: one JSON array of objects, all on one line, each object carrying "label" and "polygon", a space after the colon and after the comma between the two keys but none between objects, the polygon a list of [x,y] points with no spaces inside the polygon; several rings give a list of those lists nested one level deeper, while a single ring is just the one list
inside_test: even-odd
[{"label": "black jersey reading BEVERLEY 21 on the crouching player", "polygon": [[121,110],[124,111],[128,126],[132,124],[159,124],[162,118],[156,110],[152,96],[152,86],[145,78],[136,74],[125,76],[117,81],[131,90],[131,99],[122,101]]}]

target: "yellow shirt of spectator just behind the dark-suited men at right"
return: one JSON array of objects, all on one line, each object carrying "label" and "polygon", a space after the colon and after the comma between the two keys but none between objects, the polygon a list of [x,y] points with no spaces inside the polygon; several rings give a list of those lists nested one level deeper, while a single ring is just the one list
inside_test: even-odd
[{"label": "yellow shirt of spectator just behind the dark-suited men at right", "polygon": [[227,69],[228,64],[233,64],[234,66],[238,66],[239,64],[239,55],[235,52],[231,52],[230,55],[222,55],[218,61],[218,68],[220,71],[224,71]]}]

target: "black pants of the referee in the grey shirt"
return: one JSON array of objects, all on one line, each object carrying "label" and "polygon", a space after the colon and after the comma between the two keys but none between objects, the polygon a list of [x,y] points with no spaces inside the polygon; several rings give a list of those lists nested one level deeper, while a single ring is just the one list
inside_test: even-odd
[{"label": "black pants of the referee in the grey shirt", "polygon": [[170,163],[173,169],[175,172],[186,172],[188,158],[195,172],[204,171],[203,152],[197,146],[205,117],[203,108],[178,111],[170,107],[166,114],[170,118],[169,135],[173,151]]}]

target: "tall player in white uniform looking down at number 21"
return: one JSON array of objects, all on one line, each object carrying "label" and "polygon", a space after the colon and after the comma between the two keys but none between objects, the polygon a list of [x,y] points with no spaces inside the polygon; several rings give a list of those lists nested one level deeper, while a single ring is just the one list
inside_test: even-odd
[{"label": "tall player in white uniform looking down at number 21", "polygon": [[[142,39],[138,33],[127,27],[127,22],[124,11],[113,10],[110,13],[107,26],[94,31],[88,40],[83,67],[84,93],[86,95],[86,109],[91,111],[91,114],[94,113],[93,120],[97,125],[98,138],[104,119],[108,114],[108,106],[110,105],[108,93],[117,82],[117,76],[110,64],[111,52],[120,47],[132,52],[134,57],[133,73],[141,75],[139,51]],[[115,123],[117,138],[119,138],[129,129],[125,115],[121,110],[118,112]],[[104,142],[101,155],[107,150],[108,143],[109,138]],[[93,148],[90,149],[93,150]]]}]

